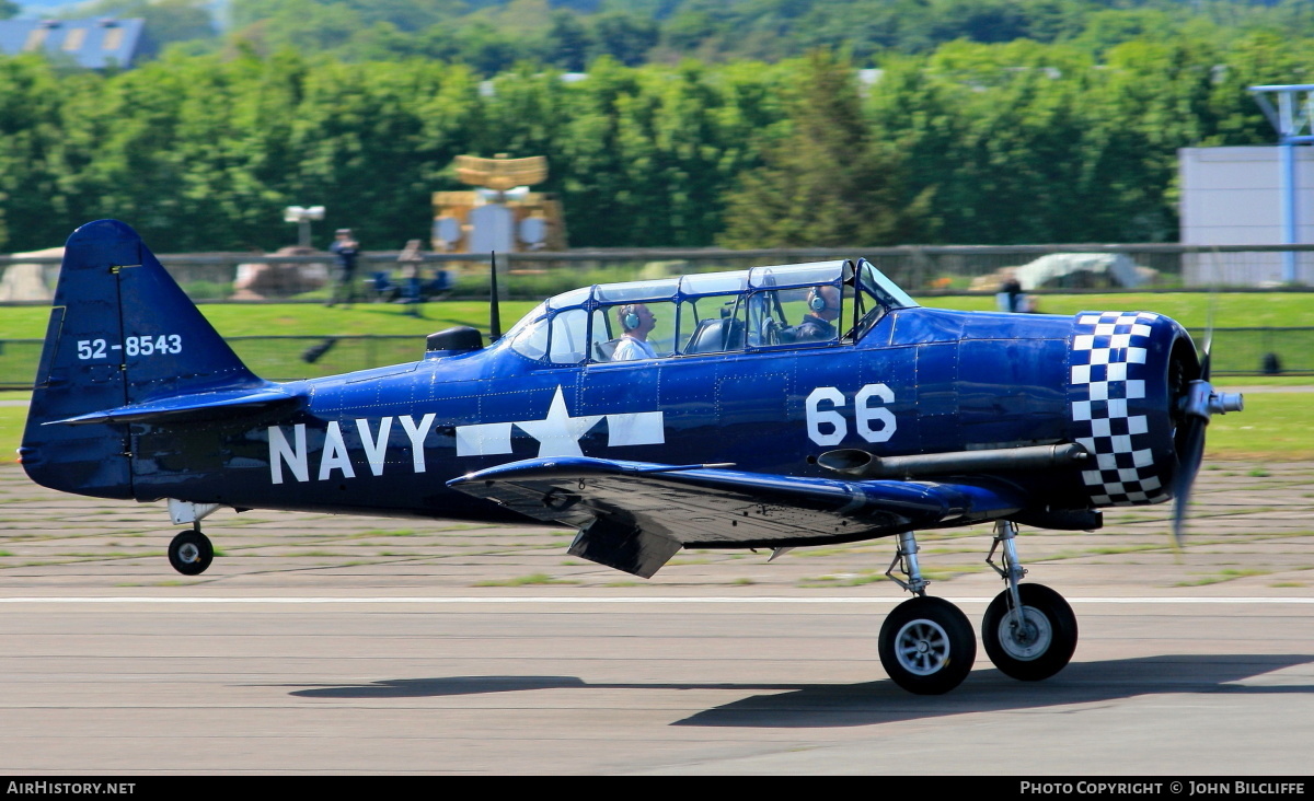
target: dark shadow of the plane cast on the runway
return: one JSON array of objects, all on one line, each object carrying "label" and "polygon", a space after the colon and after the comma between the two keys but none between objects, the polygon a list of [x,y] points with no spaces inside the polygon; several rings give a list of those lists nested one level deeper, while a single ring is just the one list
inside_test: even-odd
[{"label": "dark shadow of the plane cast on the runway", "polygon": [[1072,663],[1058,676],[1037,683],[1017,682],[997,670],[976,670],[958,689],[943,696],[913,696],[888,679],[861,684],[615,684],[589,683],[576,676],[394,679],[360,685],[311,687],[290,695],[311,699],[409,699],[535,689],[733,689],[756,695],[699,712],[673,725],[825,727],[1089,704],[1158,693],[1306,695],[1314,693],[1314,683],[1259,685],[1238,682],[1309,663],[1314,663],[1311,654],[1141,657]]}]

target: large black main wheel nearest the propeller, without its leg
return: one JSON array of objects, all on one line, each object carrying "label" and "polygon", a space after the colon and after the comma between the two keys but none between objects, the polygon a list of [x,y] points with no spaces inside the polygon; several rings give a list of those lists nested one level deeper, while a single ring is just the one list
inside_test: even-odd
[{"label": "large black main wheel nearest the propeller, without its leg", "polygon": [[1022,620],[1009,611],[1009,592],[995,596],[982,620],[986,655],[1007,676],[1039,682],[1067,667],[1076,650],[1076,615],[1045,584],[1018,584]]}]

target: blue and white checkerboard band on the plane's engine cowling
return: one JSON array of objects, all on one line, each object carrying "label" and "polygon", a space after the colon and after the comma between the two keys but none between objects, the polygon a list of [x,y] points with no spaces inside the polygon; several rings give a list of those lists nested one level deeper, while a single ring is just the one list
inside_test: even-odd
[{"label": "blue and white checkerboard band on the plane's engine cowling", "polygon": [[1072,339],[1072,420],[1076,441],[1096,460],[1083,470],[1095,506],[1138,506],[1168,498],[1158,475],[1144,415],[1129,401],[1146,397],[1146,345],[1158,314],[1077,315]]}]

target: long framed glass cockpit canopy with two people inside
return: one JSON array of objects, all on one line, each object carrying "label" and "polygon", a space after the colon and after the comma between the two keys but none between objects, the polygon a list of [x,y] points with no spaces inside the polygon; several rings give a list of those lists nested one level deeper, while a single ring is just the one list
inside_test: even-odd
[{"label": "long framed glass cockpit canopy with two people inside", "polygon": [[562,365],[819,348],[854,343],[890,311],[913,306],[865,259],[754,267],[566,292],[503,341]]}]

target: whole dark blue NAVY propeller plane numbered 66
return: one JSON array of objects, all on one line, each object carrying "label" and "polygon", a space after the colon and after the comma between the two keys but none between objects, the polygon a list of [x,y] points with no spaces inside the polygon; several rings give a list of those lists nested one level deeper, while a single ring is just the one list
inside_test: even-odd
[{"label": "whole dark blue NAVY propeller plane numbered 66", "polygon": [[[976,639],[926,595],[915,532],[992,521],[1005,590],[982,639],[1005,674],[1062,670],[1077,625],[1017,527],[1097,529],[1177,498],[1215,393],[1176,322],[924,309],[866,260],[586,286],[484,347],[277,383],[252,374],[126,225],[68,239],[20,456],[57,490],[167,499],[180,573],[219,507],[578,529],[569,553],[652,576],[681,548],[894,537],[913,597],[879,634],[890,676],[942,693]],[[999,563],[995,558],[999,554]]]}]

